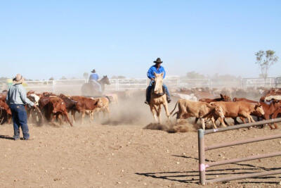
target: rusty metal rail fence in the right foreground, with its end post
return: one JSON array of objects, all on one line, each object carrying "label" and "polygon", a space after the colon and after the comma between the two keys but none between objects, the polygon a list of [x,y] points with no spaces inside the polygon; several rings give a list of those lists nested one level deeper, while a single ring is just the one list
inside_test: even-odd
[{"label": "rusty metal rail fence in the right foreground, with its end post", "polygon": [[205,146],[204,137],[206,134],[223,132],[223,131],[227,131],[227,130],[237,130],[240,128],[251,127],[254,125],[264,125],[267,123],[276,123],[276,122],[281,122],[281,118],[263,120],[263,121],[259,121],[259,122],[255,122],[255,123],[247,123],[247,124],[235,125],[235,126],[230,126],[230,127],[222,127],[222,128],[218,128],[218,129],[214,129],[214,130],[202,130],[202,129],[198,130],[200,183],[207,184],[207,183],[214,183],[214,182],[226,182],[226,181],[230,181],[230,180],[241,180],[241,179],[250,178],[250,177],[260,177],[260,176],[265,176],[265,175],[281,174],[281,170],[273,170],[273,171],[267,171],[267,172],[262,172],[262,173],[251,173],[251,174],[244,174],[244,175],[235,175],[233,177],[222,177],[222,178],[206,180],[206,169],[210,168],[212,166],[226,165],[226,164],[242,162],[242,161],[250,161],[250,160],[259,159],[259,158],[269,158],[269,157],[273,157],[273,156],[281,156],[281,151],[277,151],[275,153],[267,153],[267,154],[262,154],[262,155],[257,155],[257,156],[249,156],[247,158],[234,158],[234,159],[230,159],[230,160],[226,160],[226,161],[206,163],[205,151],[209,151],[211,149],[223,148],[223,147],[227,147],[227,146],[235,146],[235,145],[239,145],[239,144],[247,144],[247,143],[251,143],[251,142],[260,142],[260,141],[268,140],[268,139],[281,138],[281,134],[275,134],[275,135],[270,135],[270,136],[266,136],[266,137],[258,137],[258,138],[254,138],[254,139],[247,139],[247,140],[240,140],[240,141],[236,141],[236,142],[216,144],[213,146]]}]

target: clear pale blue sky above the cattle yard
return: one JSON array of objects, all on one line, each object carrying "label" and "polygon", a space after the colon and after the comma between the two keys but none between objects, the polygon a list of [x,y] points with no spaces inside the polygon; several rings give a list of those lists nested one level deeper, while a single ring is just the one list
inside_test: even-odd
[{"label": "clear pale blue sky above the cattle yard", "polygon": [[145,78],[156,58],[167,76],[259,77],[254,53],[280,60],[281,1],[1,1],[0,77]]}]

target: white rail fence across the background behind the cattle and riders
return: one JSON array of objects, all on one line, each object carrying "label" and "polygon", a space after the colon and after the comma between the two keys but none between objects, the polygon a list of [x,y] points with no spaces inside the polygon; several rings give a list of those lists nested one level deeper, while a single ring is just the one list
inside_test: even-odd
[{"label": "white rail fence across the background behind the cattle and riders", "polygon": [[[36,92],[55,92],[80,94],[81,86],[86,80],[41,80],[41,81],[26,81],[25,87],[27,90]],[[164,83],[171,89],[178,87],[237,87],[247,89],[247,87],[281,87],[281,77],[264,78],[243,78],[242,80],[211,80],[211,79],[186,79],[183,77],[169,77],[164,80]],[[105,90],[126,90],[126,89],[145,89],[149,84],[146,78],[141,79],[110,79],[110,85],[105,85]],[[6,82],[0,82],[0,89],[7,89]]]}]

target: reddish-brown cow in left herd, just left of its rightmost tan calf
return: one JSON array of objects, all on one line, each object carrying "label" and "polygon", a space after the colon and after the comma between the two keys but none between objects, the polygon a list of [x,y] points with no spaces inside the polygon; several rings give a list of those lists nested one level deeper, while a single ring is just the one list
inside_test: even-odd
[{"label": "reddish-brown cow in left herd, just left of its rightmost tan calf", "polygon": [[[78,111],[80,111],[82,113],[81,124],[84,123],[84,117],[85,117],[86,111],[91,112],[91,111],[94,111],[95,108],[97,108],[97,107],[100,108],[103,106],[103,102],[100,101],[100,99],[92,99],[92,98],[88,98],[85,96],[71,96],[70,99],[77,101],[76,108],[78,109]],[[73,111],[73,110],[71,112],[73,122],[75,122],[75,112],[76,111]]]}]

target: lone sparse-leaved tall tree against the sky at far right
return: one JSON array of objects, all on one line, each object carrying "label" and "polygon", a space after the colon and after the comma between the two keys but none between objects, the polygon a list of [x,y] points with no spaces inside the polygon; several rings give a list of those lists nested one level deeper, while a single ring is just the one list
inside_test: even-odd
[{"label": "lone sparse-leaved tall tree against the sky at far right", "polygon": [[275,51],[268,50],[266,52],[260,50],[255,53],[256,55],[256,64],[259,64],[261,68],[260,77],[268,77],[268,70],[271,65],[275,64],[278,61],[278,56],[275,56]]}]

